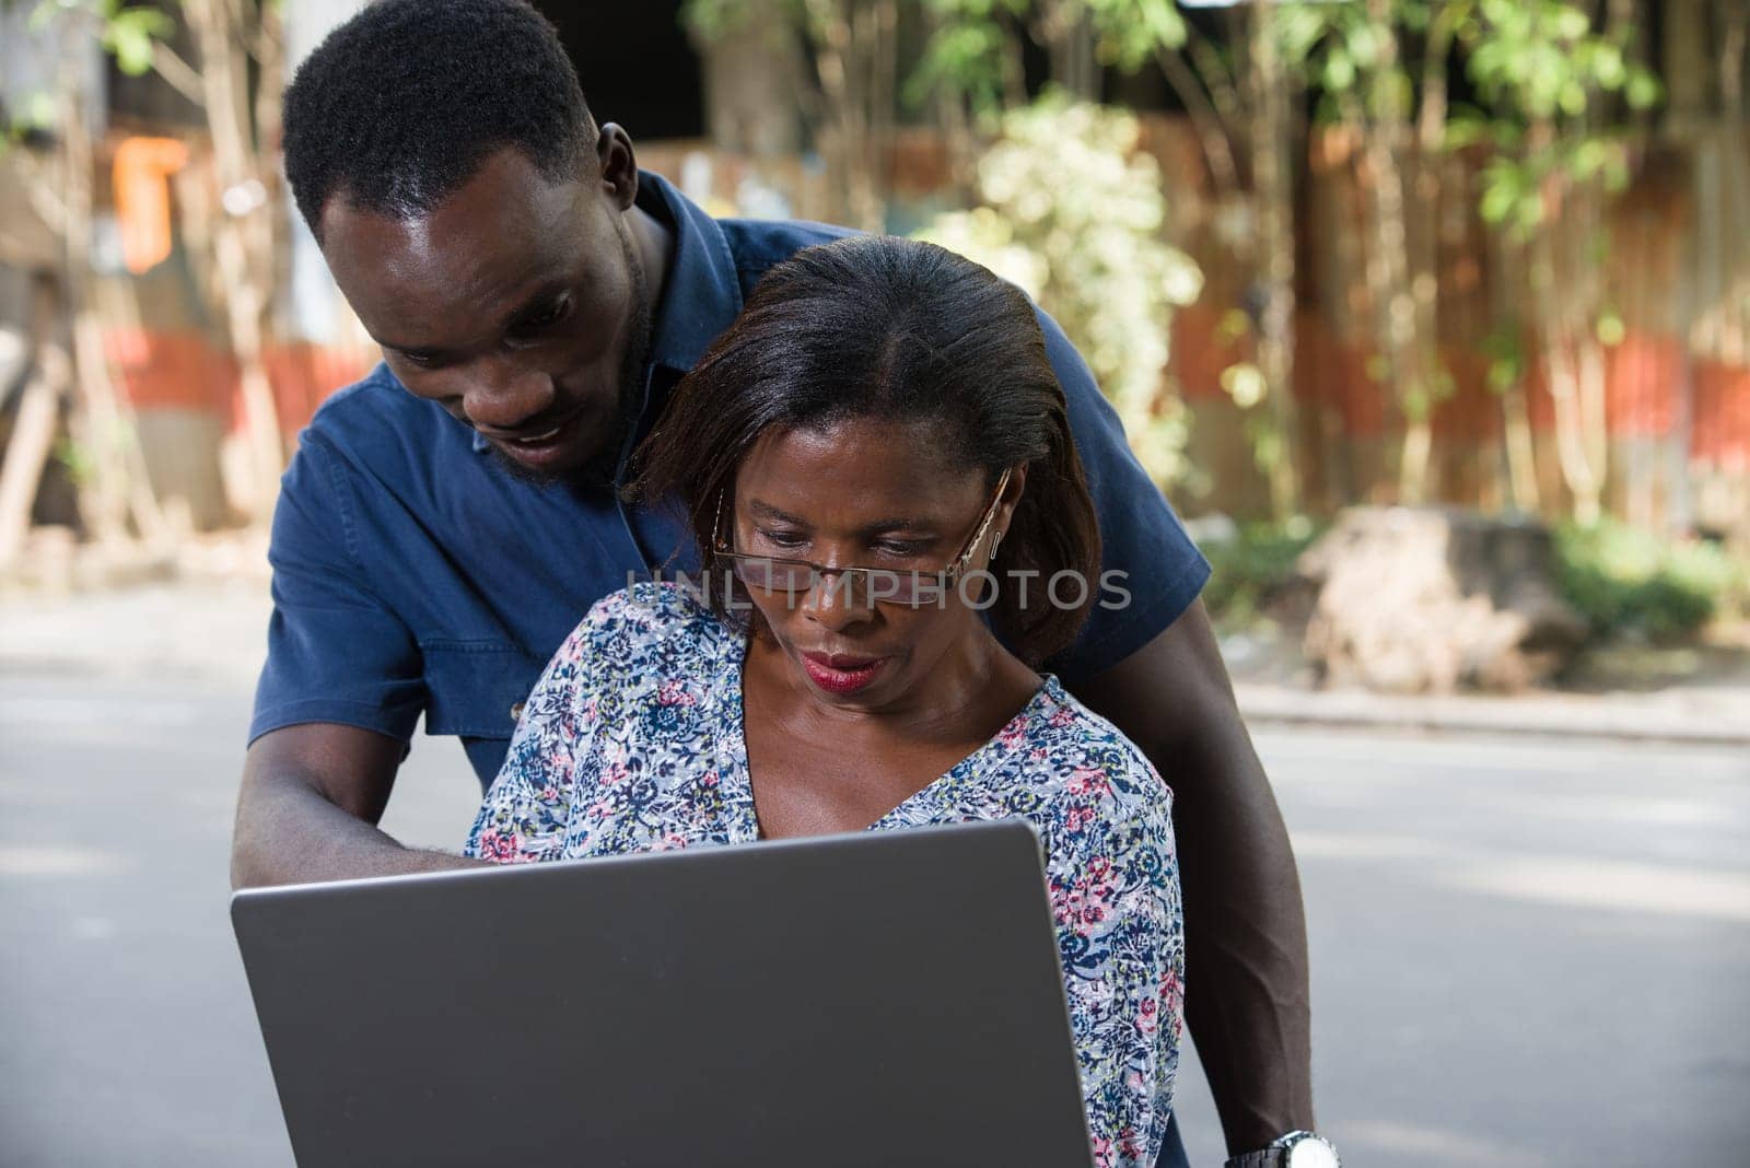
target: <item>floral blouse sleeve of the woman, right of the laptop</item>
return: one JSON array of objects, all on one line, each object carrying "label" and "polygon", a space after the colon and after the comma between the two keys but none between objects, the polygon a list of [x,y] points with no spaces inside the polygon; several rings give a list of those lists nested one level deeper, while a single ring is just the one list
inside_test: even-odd
[{"label": "floral blouse sleeve of the woman, right of the laptop", "polygon": [[[1050,857],[1052,909],[1096,1168],[1148,1168],[1172,1110],[1185,932],[1172,825],[1152,769],[1071,780]],[[1130,794],[1113,796],[1113,787]]]}]

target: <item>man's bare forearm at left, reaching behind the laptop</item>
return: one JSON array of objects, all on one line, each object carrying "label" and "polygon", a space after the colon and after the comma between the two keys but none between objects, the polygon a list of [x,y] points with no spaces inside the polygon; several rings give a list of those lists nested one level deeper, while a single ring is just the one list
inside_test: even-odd
[{"label": "man's bare forearm at left, reaching behind the laptop", "polygon": [[480,867],[404,848],[376,829],[402,747],[354,726],[312,722],[262,734],[243,761],[231,836],[231,886]]}]

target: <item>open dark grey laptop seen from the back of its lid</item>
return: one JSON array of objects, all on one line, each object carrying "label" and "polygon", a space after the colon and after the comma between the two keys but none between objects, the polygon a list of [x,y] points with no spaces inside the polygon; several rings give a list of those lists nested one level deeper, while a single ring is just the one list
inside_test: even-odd
[{"label": "open dark grey laptop seen from the back of its lid", "polygon": [[298,1163],[1090,1165],[1020,820],[240,892]]}]

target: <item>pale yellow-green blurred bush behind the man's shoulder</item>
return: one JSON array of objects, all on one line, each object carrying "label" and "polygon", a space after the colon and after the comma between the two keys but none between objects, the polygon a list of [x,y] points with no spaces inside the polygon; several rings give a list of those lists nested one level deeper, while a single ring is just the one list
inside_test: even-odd
[{"label": "pale yellow-green blurred bush behind the man's shoulder", "polygon": [[1050,93],[1003,117],[978,161],[973,212],[938,215],[919,238],[1026,289],[1069,334],[1116,406],[1143,467],[1167,484],[1185,472],[1186,420],[1162,392],[1172,309],[1202,273],[1160,238],[1155,159],[1125,112]]}]

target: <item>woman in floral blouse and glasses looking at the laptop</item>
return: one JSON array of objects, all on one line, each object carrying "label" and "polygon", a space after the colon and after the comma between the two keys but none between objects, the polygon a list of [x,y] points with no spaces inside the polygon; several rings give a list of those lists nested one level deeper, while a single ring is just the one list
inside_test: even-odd
[{"label": "woman in floral blouse and glasses looking at the laptop", "polygon": [[590,610],[469,853],[1026,817],[1096,1161],[1153,1165],[1181,1025],[1171,792],[1034,671],[1097,601],[1099,530],[1027,299],[924,243],[798,252],[676,388],[634,491],[686,507],[704,577]]}]

